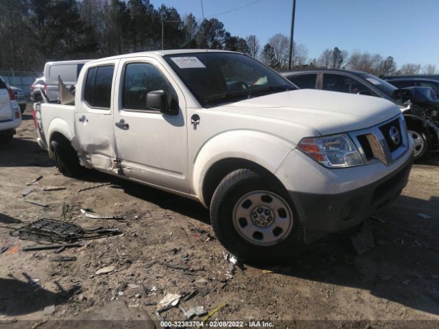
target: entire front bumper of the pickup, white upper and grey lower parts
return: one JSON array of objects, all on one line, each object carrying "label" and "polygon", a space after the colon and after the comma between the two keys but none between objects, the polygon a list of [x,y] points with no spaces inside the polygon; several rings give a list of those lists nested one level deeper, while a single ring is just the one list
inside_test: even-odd
[{"label": "entire front bumper of the pickup, white upper and grey lower parts", "polygon": [[[394,162],[327,169],[301,151],[285,158],[276,171],[294,202],[305,241],[356,226],[395,199],[407,184],[413,162],[413,141]],[[307,235],[309,239],[307,238]]]}]

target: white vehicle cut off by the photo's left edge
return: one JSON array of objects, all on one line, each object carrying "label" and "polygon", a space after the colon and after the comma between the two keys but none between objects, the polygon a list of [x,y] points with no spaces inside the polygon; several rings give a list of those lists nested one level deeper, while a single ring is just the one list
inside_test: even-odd
[{"label": "white vehicle cut off by the photo's left edge", "polygon": [[20,106],[10,86],[0,77],[0,142],[12,140],[20,124]]}]

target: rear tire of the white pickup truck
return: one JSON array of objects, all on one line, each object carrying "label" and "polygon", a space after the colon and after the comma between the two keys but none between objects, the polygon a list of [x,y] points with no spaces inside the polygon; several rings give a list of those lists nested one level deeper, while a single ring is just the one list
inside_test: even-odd
[{"label": "rear tire of the white pickup truck", "polygon": [[82,175],[82,167],[78,154],[68,141],[58,140],[50,143],[54,150],[56,167],[62,175],[79,178]]}]

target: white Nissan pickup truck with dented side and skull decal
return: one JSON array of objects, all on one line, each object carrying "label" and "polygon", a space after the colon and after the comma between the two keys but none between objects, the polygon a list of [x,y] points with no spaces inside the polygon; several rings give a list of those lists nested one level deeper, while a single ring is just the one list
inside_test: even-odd
[{"label": "white Nissan pickup truck with dented side and skull decal", "polygon": [[296,90],[230,51],[132,53],[87,62],[75,105],[36,103],[38,143],[82,167],[210,208],[219,241],[250,263],[296,256],[392,201],[413,141],[392,102]]}]

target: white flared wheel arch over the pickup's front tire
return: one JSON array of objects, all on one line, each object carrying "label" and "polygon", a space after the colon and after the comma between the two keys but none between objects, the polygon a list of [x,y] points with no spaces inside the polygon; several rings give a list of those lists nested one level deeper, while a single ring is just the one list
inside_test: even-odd
[{"label": "white flared wheel arch over the pickup's front tire", "polygon": [[278,136],[254,130],[233,130],[215,135],[202,145],[193,161],[193,193],[206,206],[202,193],[204,178],[219,160],[241,158],[275,173],[295,146]]}]

